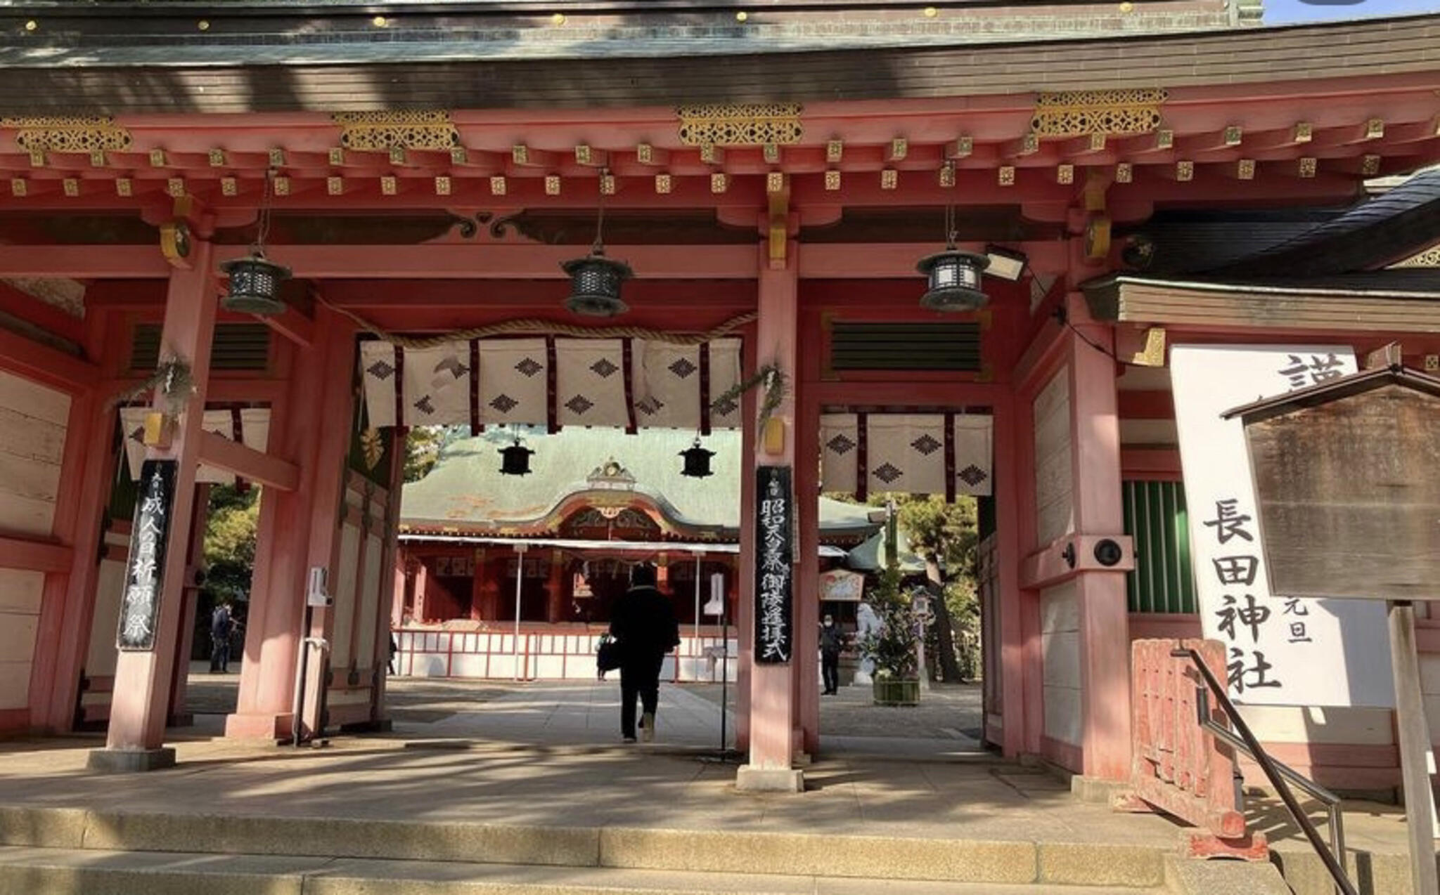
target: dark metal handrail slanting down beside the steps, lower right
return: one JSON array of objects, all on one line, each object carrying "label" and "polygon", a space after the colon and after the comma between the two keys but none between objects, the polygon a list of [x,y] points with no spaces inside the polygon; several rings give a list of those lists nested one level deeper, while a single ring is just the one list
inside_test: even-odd
[{"label": "dark metal handrail slanting down beside the steps, lower right", "polygon": [[[1310,840],[1310,848],[1315,849],[1315,853],[1319,855],[1320,860],[1325,863],[1325,869],[1329,871],[1331,879],[1335,881],[1335,888],[1342,895],[1359,895],[1355,885],[1349,881],[1349,876],[1346,876],[1344,865],[1339,859],[1336,859],[1336,853],[1342,858],[1345,855],[1345,830],[1341,822],[1339,797],[1266,754],[1264,747],[1261,747],[1260,741],[1256,740],[1250,725],[1246,724],[1244,718],[1240,717],[1240,712],[1236,711],[1236,705],[1225,694],[1224,685],[1215,679],[1214,672],[1210,671],[1210,666],[1205,665],[1198,652],[1188,648],[1172,649],[1171,658],[1189,659],[1195,665],[1200,671],[1201,679],[1205,682],[1205,686],[1208,686],[1210,692],[1215,695],[1220,708],[1225,712],[1225,717],[1230,718],[1230,722],[1236,727],[1236,732],[1240,735],[1236,737],[1234,732],[1227,731],[1210,718],[1210,699],[1207,698],[1204,686],[1195,688],[1198,696],[1195,704],[1200,725],[1224,740],[1231,747],[1244,751],[1256,761],[1256,764],[1260,765],[1260,770],[1264,771],[1270,786],[1273,786],[1276,793],[1279,793],[1280,801],[1283,801],[1286,810],[1289,810],[1290,819],[1300,827],[1305,837]],[[1331,848],[1326,848],[1325,842],[1320,839],[1320,832],[1315,829],[1310,819],[1300,810],[1300,803],[1295,799],[1295,793],[1292,793],[1290,787],[1286,784],[1287,780],[1303,789],[1319,801],[1325,803],[1331,817],[1329,826],[1331,843],[1335,849],[1333,852]]]}]

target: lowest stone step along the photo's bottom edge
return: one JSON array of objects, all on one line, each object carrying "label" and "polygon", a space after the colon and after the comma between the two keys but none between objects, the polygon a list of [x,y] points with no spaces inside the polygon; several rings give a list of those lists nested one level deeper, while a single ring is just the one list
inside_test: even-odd
[{"label": "lowest stone step along the photo's bottom edge", "polygon": [[1165,889],[956,883],[360,858],[0,848],[26,895],[1162,895]]}]

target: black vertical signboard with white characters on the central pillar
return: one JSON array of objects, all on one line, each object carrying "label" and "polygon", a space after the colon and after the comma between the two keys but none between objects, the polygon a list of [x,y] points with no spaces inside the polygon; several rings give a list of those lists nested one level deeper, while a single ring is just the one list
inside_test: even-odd
[{"label": "black vertical signboard with white characters on the central pillar", "polygon": [[795,492],[789,466],[759,466],[755,473],[755,660],[783,665],[795,630]]}]

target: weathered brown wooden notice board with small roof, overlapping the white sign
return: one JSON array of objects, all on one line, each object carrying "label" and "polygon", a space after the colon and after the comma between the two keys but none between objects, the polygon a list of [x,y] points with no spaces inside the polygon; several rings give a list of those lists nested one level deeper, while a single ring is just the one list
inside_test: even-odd
[{"label": "weathered brown wooden notice board with small roof, overlapping the white sign", "polygon": [[1277,594],[1440,593],[1440,380],[1378,370],[1237,412]]}]

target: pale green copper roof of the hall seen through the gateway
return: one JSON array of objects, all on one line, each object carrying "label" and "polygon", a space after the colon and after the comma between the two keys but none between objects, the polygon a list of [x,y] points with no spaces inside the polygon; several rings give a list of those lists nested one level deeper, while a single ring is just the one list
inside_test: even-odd
[{"label": "pale green copper roof of the hall seen through the gateway", "polygon": [[[435,468],[405,486],[400,524],[410,528],[484,531],[534,527],[553,530],[562,518],[547,519],[572,495],[629,491],[660,508],[685,534],[733,540],[740,525],[740,432],[723,430],[701,439],[716,455],[714,475],[696,479],[680,475],[680,452],[694,433],[647,429],[625,435],[619,429],[569,427],[554,435],[526,433],[521,442],[534,450],[530,475],[500,473],[500,449],[508,430],[492,430],[446,445]],[[626,475],[592,481],[615,460]],[[876,528],[868,506],[819,498],[825,538],[864,538]]]}]

